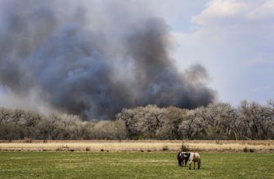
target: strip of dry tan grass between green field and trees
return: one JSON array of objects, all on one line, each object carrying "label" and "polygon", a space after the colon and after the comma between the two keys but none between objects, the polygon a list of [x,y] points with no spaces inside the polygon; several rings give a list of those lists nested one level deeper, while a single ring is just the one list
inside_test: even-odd
[{"label": "strip of dry tan grass between green field and trees", "polygon": [[[30,141],[28,141],[30,142]],[[274,152],[274,141],[12,141],[0,143],[1,151],[177,152],[182,144],[197,152]]]}]

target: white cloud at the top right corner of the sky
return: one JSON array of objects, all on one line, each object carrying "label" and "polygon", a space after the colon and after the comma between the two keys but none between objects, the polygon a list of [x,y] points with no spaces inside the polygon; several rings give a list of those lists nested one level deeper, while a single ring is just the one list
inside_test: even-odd
[{"label": "white cloud at the top right corner of the sky", "polygon": [[197,25],[234,25],[254,23],[254,20],[273,20],[274,0],[213,0],[206,9],[192,17]]}]

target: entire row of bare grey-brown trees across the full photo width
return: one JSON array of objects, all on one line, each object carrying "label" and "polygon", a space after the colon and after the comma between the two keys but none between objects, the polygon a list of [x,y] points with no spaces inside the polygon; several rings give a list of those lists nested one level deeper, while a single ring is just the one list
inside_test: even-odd
[{"label": "entire row of bare grey-brown trees across the full photo width", "polygon": [[274,139],[274,101],[123,109],[115,120],[0,108],[0,139]]}]

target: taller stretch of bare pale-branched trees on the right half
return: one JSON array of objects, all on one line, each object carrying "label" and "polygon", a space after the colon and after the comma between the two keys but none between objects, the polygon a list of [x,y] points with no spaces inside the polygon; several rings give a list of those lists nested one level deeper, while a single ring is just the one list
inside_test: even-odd
[{"label": "taller stretch of bare pale-branched trees on the right half", "polygon": [[214,103],[197,109],[155,105],[123,109],[116,115],[127,137],[145,139],[274,139],[274,102]]}]

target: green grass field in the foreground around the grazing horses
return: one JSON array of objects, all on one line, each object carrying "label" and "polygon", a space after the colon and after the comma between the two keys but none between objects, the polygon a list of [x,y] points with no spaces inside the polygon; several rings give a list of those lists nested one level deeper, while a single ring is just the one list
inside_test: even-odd
[{"label": "green grass field in the foreground around the grazing horses", "polygon": [[200,155],[189,170],[175,153],[0,152],[0,178],[274,178],[274,154]]}]

